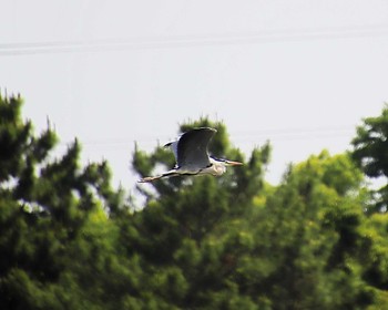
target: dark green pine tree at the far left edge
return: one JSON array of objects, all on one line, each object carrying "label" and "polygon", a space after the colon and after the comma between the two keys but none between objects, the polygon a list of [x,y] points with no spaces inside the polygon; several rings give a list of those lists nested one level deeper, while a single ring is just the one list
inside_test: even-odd
[{"label": "dark green pine tree at the far left edge", "polygon": [[55,133],[35,136],[21,106],[0,97],[0,308],[116,309],[141,272],[108,217],[124,211],[123,193],[106,163],[80,167],[78,141],[50,156]]}]

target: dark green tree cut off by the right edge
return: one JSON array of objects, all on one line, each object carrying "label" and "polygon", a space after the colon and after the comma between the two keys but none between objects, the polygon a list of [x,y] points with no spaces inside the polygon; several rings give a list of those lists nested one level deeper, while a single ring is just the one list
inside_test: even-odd
[{"label": "dark green tree cut off by the right edge", "polygon": [[[369,190],[371,199],[365,204],[370,217],[364,229],[363,246],[364,278],[376,288],[379,302],[388,301],[388,105],[381,114],[366,117],[357,127],[356,137],[351,142],[351,156],[363,172],[371,178],[385,180],[377,190]],[[374,308],[374,309],[379,309]]]}]

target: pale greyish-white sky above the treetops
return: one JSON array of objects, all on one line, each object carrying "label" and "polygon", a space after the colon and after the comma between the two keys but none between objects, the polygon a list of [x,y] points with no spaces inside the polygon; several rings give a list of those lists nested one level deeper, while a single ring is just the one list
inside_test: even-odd
[{"label": "pale greyish-white sky above the treetops", "polygon": [[127,189],[134,141],[152,151],[202,115],[246,155],[270,140],[276,183],[388,101],[388,1],[3,0],[0,87]]}]

